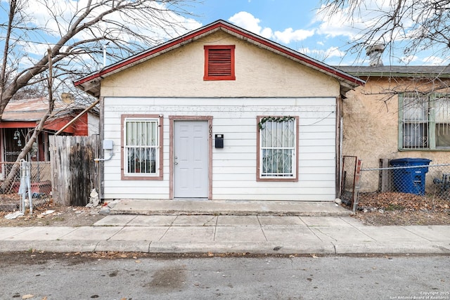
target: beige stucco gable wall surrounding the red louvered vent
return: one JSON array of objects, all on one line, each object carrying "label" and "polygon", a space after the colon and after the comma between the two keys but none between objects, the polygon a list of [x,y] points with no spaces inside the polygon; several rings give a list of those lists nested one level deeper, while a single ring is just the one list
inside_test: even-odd
[{"label": "beige stucco gable wall surrounding the red louvered vent", "polygon": [[[236,45],[236,80],[204,81],[205,45]],[[338,97],[337,79],[219,31],[101,82],[101,96]]]}]

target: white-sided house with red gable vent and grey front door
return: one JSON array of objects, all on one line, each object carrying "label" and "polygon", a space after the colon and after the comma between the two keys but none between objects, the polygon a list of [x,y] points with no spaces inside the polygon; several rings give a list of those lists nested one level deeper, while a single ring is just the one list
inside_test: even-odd
[{"label": "white-sided house with red gable vent and grey front door", "polygon": [[364,84],[218,20],[75,86],[101,100],[103,199],[333,201]]}]

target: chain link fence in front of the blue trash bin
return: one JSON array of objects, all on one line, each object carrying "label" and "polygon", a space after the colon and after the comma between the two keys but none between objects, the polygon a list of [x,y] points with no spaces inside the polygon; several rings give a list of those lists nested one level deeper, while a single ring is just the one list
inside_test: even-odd
[{"label": "chain link fence in front of the blue trash bin", "polygon": [[394,205],[399,197],[448,200],[450,205],[450,164],[429,164],[428,159],[381,159],[378,167],[358,169],[358,162],[356,157],[347,157],[342,170],[347,185],[341,185],[341,199],[353,211],[360,202],[392,200]]}]

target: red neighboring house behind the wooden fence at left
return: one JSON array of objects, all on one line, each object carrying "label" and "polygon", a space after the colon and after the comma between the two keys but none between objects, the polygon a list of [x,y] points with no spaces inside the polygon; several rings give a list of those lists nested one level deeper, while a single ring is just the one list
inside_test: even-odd
[{"label": "red neighboring house behind the wooden fence at left", "polygon": [[[44,130],[39,134],[35,147],[30,151],[32,162],[48,162],[49,136],[63,128],[85,107],[57,100],[51,117],[46,121]],[[0,122],[1,178],[5,178],[4,162],[15,162],[21,150],[29,140],[34,128],[49,109],[47,98],[11,100],[4,110]],[[98,134],[98,113],[88,112],[64,129],[61,135],[88,136]]]}]

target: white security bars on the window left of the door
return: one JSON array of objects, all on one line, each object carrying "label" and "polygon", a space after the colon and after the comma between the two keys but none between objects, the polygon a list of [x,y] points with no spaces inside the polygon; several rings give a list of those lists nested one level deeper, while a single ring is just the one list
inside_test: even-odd
[{"label": "white security bars on the window left of the door", "polygon": [[127,174],[157,174],[158,119],[125,119],[124,159]]}]

